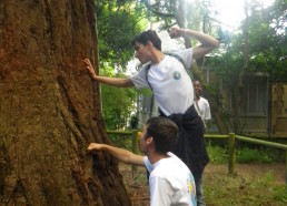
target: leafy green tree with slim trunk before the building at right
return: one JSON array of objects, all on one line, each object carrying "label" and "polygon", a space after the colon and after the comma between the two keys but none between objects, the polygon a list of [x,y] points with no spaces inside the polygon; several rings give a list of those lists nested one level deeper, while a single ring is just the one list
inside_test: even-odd
[{"label": "leafy green tree with slim trunk before the building at right", "polygon": [[224,52],[210,59],[215,72],[230,91],[231,112],[226,114],[232,116],[230,125],[237,134],[244,127],[239,119],[240,111],[245,110],[244,75],[247,72],[268,72],[270,83],[286,83],[286,9],[284,0],[276,0],[268,8],[263,8],[258,1],[246,4],[241,32],[228,38],[231,41],[225,42]]}]

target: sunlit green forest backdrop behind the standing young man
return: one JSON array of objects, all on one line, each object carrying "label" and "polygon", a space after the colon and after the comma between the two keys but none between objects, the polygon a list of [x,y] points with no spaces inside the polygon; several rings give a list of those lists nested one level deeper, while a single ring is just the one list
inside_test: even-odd
[{"label": "sunlit green forest backdrop behind the standing young man", "polygon": [[[287,80],[286,2],[276,0],[268,6],[259,0],[244,2],[241,21],[227,25],[220,21],[220,10],[212,0],[98,1],[100,73],[109,76],[131,75],[127,71],[133,54],[130,40],[135,34],[152,27],[152,23],[161,22],[158,31],[179,25],[211,34],[220,41],[220,47],[214,51],[212,58],[206,60],[205,65],[212,66],[217,78],[231,91],[231,111],[227,112],[222,107],[220,84],[207,83],[202,78],[202,70],[197,66],[192,68],[192,72],[204,84],[219,133],[227,134],[231,127],[240,134],[244,74],[265,72],[270,76],[271,83],[285,84]],[[177,41],[181,48],[192,47],[195,43],[188,40]],[[138,117],[140,93],[133,89],[102,85],[101,94],[107,127],[133,127]],[[234,114],[232,121],[225,117],[230,113]]]}]

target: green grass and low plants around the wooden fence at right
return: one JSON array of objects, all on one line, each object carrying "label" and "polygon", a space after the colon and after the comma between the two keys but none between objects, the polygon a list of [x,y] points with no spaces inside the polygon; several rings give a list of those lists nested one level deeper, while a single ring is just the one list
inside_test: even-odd
[{"label": "green grass and low plants around the wooden fence at right", "polygon": [[[208,154],[211,164],[226,164],[227,150],[222,146],[209,143]],[[237,163],[274,163],[285,159],[283,150],[266,147],[236,148]],[[275,173],[267,172],[260,176],[254,174],[226,175],[214,173],[212,177],[205,179],[205,197],[207,205],[286,205],[287,187],[275,183]],[[236,196],[234,194],[237,194]]]}]

